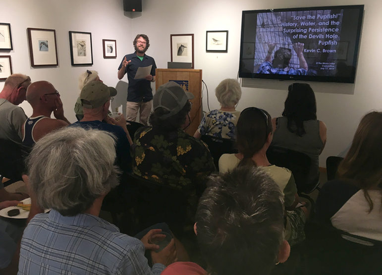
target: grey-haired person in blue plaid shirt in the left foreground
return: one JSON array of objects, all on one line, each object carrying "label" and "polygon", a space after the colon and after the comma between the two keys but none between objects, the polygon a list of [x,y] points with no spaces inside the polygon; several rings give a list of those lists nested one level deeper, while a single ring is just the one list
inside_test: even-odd
[{"label": "grey-haired person in blue plaid shirt in the left foreground", "polygon": [[[28,158],[32,202],[51,209],[36,215],[21,240],[18,274],[160,274],[176,259],[174,242],[161,252],[119,233],[99,218],[104,197],[118,184],[114,138],[106,131],[65,127],[41,138]],[[49,236],[49,237],[47,237]]]}]

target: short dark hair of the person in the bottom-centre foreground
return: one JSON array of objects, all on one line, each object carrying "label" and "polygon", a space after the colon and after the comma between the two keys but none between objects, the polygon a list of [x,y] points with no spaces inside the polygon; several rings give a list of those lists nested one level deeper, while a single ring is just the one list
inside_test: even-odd
[{"label": "short dark hair of the person in the bottom-centre foreground", "polygon": [[212,176],[196,212],[197,240],[218,275],[269,274],[283,241],[283,195],[261,168]]}]

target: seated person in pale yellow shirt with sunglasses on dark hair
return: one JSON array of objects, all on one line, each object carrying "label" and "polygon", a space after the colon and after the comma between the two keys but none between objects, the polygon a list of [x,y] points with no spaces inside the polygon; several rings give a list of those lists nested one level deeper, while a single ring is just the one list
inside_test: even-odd
[{"label": "seated person in pale yellow shirt with sunglasses on dark hair", "polygon": [[273,138],[271,116],[265,110],[250,107],[243,110],[237,121],[236,141],[239,153],[224,154],[219,160],[219,171],[232,170],[238,165],[260,166],[268,172],[284,194],[287,217],[285,239],[293,245],[305,238],[304,223],[308,210],[295,208],[299,202],[297,187],[290,170],[269,163],[267,149]]}]

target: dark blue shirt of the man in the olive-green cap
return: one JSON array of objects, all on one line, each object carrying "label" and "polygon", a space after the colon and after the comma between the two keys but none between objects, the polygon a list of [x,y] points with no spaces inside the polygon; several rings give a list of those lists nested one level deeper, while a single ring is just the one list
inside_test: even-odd
[{"label": "dark blue shirt of the man in the olive-green cap", "polygon": [[127,139],[125,131],[122,127],[102,122],[100,120],[93,121],[77,121],[71,126],[78,126],[84,129],[92,128],[112,133],[117,139],[115,141],[116,160],[115,163],[122,171],[131,172],[131,156],[130,156],[130,144]]}]

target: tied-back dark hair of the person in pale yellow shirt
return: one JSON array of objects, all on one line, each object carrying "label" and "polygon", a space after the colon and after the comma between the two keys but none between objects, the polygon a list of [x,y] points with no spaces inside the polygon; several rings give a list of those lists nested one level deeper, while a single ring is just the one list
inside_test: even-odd
[{"label": "tied-back dark hair of the person in pale yellow shirt", "polygon": [[244,158],[239,165],[256,165],[252,157],[263,148],[272,131],[271,115],[266,110],[250,107],[240,113],[236,124],[236,143]]}]

